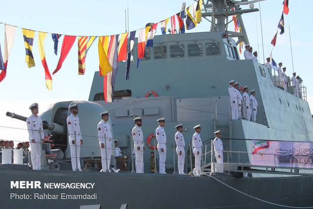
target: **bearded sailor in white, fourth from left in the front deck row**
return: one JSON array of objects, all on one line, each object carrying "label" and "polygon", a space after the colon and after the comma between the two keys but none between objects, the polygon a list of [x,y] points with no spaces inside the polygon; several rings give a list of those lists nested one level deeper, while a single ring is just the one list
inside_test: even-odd
[{"label": "bearded sailor in white, fourth from left in the front deck row", "polygon": [[132,129],[131,133],[133,136],[133,141],[134,141],[134,150],[136,154],[136,159],[135,159],[135,168],[136,168],[136,173],[144,173],[144,164],[143,164],[143,151],[145,150],[144,148],[144,143],[143,143],[143,133],[141,130],[141,125],[142,125],[142,117],[136,117],[134,118],[134,121],[136,123],[135,127]]}]

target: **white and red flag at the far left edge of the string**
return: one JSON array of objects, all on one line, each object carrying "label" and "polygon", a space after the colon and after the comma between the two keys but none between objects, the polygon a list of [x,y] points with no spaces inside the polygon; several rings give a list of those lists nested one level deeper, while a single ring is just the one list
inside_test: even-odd
[{"label": "white and red flag at the far left edge of the string", "polygon": [[12,25],[7,25],[5,24],[5,56],[4,56],[4,65],[5,65],[5,70],[2,70],[0,73],[0,82],[5,79],[7,75],[7,67],[8,67],[8,59],[9,55],[13,46],[13,40],[14,40],[14,35],[15,35],[15,26]]}]

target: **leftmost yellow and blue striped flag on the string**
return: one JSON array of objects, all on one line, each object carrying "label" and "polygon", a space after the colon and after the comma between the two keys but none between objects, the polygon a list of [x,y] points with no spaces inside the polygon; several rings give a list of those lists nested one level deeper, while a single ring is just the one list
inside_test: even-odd
[{"label": "leftmost yellow and blue striped flag on the string", "polygon": [[25,51],[26,51],[25,62],[27,62],[28,67],[34,67],[35,61],[34,61],[32,49],[33,49],[35,31],[22,29],[22,32],[23,32]]}]

